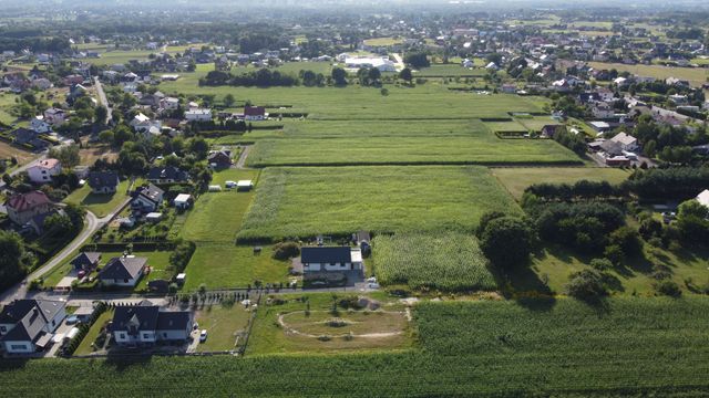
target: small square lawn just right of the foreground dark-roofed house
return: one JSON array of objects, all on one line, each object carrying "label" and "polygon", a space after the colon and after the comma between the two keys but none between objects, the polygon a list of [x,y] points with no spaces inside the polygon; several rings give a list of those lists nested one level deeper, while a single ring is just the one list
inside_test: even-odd
[{"label": "small square lawn just right of the foreground dark-roofed house", "polygon": [[[209,305],[195,313],[199,329],[207,331],[207,339],[197,352],[234,350],[244,343],[251,313],[236,303],[232,306]],[[238,338],[238,339],[237,339]]]}]

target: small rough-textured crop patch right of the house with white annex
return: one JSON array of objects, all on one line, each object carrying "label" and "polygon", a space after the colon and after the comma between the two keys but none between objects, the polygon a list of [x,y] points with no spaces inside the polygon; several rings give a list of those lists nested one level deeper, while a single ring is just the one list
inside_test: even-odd
[{"label": "small rough-textured crop patch right of the house with white annex", "polygon": [[492,291],[497,286],[471,234],[377,235],[372,248],[374,274],[382,285],[448,292]]}]

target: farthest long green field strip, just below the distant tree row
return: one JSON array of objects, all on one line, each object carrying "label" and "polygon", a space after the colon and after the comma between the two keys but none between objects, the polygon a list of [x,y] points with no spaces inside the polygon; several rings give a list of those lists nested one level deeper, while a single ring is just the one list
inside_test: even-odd
[{"label": "farthest long green field strip, just below the distant tree row", "polygon": [[[202,73],[202,72],[201,72]],[[220,101],[232,93],[238,101],[290,112],[308,114],[309,119],[336,121],[435,121],[506,117],[507,112],[542,112],[534,101],[512,94],[476,95],[448,90],[445,85],[427,83],[415,87],[387,85],[388,95],[377,87],[230,87],[197,86],[197,82],[179,78],[161,83],[163,93],[186,95],[214,94]],[[434,105],[434,106],[433,106]]]}]

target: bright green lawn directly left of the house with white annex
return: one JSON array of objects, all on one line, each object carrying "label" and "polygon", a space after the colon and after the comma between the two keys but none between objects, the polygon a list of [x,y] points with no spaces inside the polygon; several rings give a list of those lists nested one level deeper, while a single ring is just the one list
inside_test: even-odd
[{"label": "bright green lawn directly left of the house with white annex", "polygon": [[198,243],[185,270],[183,292],[196,291],[203,283],[210,290],[254,286],[257,280],[287,284],[289,266],[289,261],[274,260],[268,245],[263,253],[254,254],[250,245]]}]

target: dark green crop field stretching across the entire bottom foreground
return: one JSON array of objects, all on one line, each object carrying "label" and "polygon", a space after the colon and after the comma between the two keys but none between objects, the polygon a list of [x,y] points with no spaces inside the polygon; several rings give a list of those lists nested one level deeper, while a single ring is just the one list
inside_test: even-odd
[{"label": "dark green crop field stretching across the entire bottom foreground", "polygon": [[414,311],[421,348],[255,356],[247,348],[244,358],[8,359],[0,363],[0,392],[703,396],[709,389],[707,312],[709,301],[703,298],[614,298],[600,307],[572,300],[424,303]]}]

